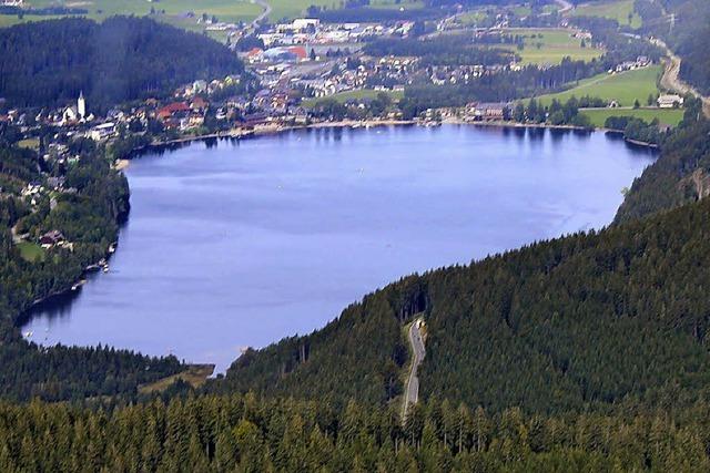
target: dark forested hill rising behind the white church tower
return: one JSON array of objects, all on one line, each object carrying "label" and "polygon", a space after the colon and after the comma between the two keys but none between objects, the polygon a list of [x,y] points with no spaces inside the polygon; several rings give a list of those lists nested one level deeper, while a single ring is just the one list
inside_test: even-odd
[{"label": "dark forested hill rising behind the white church tower", "polygon": [[62,105],[83,91],[90,111],[105,111],[242,71],[224,45],[145,18],[67,18],[0,30],[0,97],[11,106]]}]

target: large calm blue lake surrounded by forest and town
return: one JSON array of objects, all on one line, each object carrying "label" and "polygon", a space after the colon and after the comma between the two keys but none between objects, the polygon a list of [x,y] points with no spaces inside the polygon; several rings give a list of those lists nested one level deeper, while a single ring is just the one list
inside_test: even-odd
[{"label": "large calm blue lake surrounded by forest and town", "polygon": [[310,130],[133,160],[110,271],[31,313],[44,345],[225,370],[429,268],[611,222],[656,154],[604,133]]}]

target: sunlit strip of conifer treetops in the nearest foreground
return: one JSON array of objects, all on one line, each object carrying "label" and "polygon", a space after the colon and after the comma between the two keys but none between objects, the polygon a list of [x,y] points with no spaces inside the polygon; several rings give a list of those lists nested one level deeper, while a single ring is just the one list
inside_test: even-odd
[{"label": "sunlit strip of conifer treetops in the nearest foreground", "polygon": [[710,411],[500,414],[430,401],[348,403],[201,397],[91,411],[0,404],[0,470],[125,472],[708,471]]}]

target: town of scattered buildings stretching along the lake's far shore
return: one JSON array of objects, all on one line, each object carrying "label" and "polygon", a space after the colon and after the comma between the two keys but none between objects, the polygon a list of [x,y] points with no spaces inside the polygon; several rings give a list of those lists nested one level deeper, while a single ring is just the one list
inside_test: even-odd
[{"label": "town of scattered buildings stretching along the lake's far shore", "polygon": [[[638,48],[637,54],[609,63],[602,59],[611,55],[607,53],[613,44],[605,42],[608,38],[596,38],[584,22],[549,12],[516,17],[498,9],[471,23],[464,20],[465,14],[383,22],[295,18],[273,24],[222,23],[196,16],[206,30],[226,32],[226,44],[245,64],[244,73],[195,78],[175,90],[104,110],[95,109],[84,91],[79,91],[75,103],[58,109],[8,109],[0,97],[0,124],[19,130],[44,160],[63,164],[79,158],[70,146],[78,138],[128,141],[129,145],[115,146],[121,152],[113,157],[120,160],[146,145],[241,138],[305,126],[524,122],[591,127],[604,122],[594,123],[587,115],[611,113],[604,110],[620,113],[640,109],[643,102],[645,111],[674,113],[683,105],[683,96],[669,92],[633,101],[598,97],[580,81],[565,79],[568,71],[580,74],[580,70],[600,78],[596,82],[649,75],[660,70],[661,55],[652,48]],[[636,40],[646,44],[640,37]],[[557,43],[564,45],[565,56],[559,56]],[[521,78],[542,81],[545,88],[531,88],[532,94],[562,91],[559,100],[548,100],[540,114],[535,103],[520,100],[524,96],[496,90]],[[458,103],[432,97],[438,90],[464,96],[457,97]],[[562,102],[570,97],[574,111],[562,113]],[[54,131],[49,138],[32,138],[48,127]],[[661,120],[658,130],[670,127]]]}]

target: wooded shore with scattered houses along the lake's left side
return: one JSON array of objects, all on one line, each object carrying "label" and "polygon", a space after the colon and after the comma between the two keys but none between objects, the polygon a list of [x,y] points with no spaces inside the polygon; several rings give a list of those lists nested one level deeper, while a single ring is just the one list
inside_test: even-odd
[{"label": "wooded shore with scattered houses along the lake's left side", "polygon": [[[128,183],[92,141],[72,145],[70,165],[0,143],[0,397],[12,400],[83,400],[134,394],[139,384],[183,369],[174,358],[150,358],[111,348],[40,348],[20,338],[14,322],[34,301],[68,290],[84,268],[106,255],[128,212]],[[34,183],[60,191],[22,196]],[[31,202],[33,200],[33,203]],[[71,245],[42,249],[50,230]],[[21,236],[20,236],[21,235]],[[16,241],[20,239],[21,241]],[[36,250],[33,258],[21,245]]]}]

